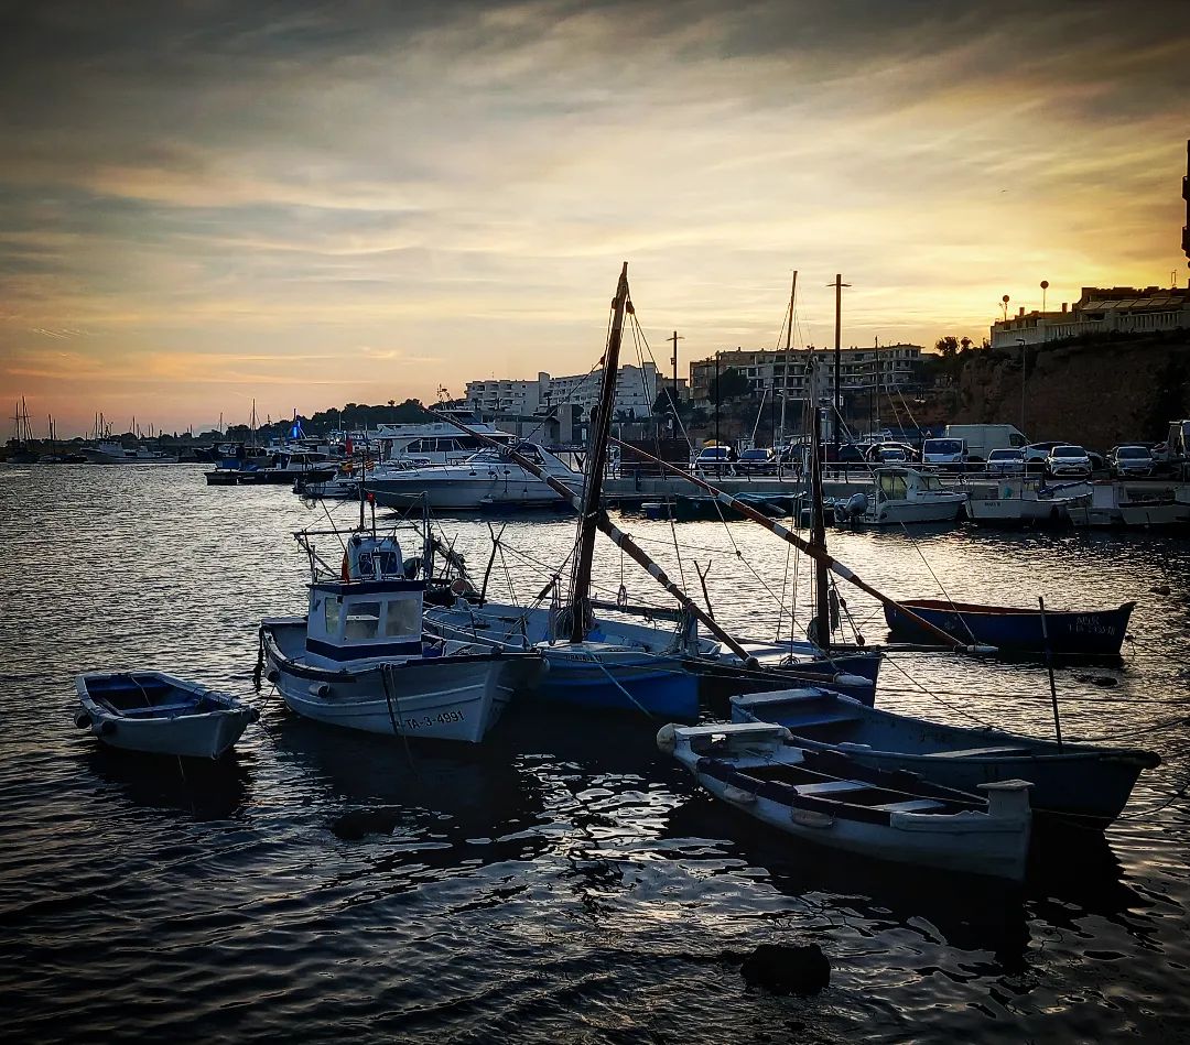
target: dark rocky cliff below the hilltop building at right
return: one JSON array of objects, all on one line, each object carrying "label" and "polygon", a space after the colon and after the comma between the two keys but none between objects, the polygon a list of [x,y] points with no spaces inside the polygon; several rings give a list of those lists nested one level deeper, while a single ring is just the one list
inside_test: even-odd
[{"label": "dark rocky cliff below the hilltop building at right", "polygon": [[[962,360],[954,423],[1021,423],[1021,351],[984,348]],[[1190,332],[1029,346],[1025,426],[1031,440],[1092,449],[1165,439],[1190,417]]]}]

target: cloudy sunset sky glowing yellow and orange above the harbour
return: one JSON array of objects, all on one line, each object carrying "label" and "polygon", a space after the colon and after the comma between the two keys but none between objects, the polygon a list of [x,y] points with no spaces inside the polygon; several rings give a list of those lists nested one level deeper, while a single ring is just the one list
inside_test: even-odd
[{"label": "cloudy sunset sky glowing yellow and orange above the harbour", "polygon": [[[0,403],[165,430],[1182,285],[1190,2],[0,0]],[[628,359],[634,351],[628,347]],[[12,434],[4,422],[0,435]]]}]

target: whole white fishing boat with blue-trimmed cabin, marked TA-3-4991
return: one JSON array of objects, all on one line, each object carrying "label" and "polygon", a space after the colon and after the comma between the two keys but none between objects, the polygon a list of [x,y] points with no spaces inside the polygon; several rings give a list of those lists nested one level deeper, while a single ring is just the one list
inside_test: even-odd
[{"label": "whole white fishing boat with blue-trimmed cabin, marked TA-3-4991", "polygon": [[309,611],[261,623],[258,665],[292,711],[365,732],[478,743],[512,695],[537,682],[539,653],[424,636],[427,583],[416,574],[432,569],[428,540],[420,561],[406,560],[394,536],[361,528],[334,577],[319,535],[296,536],[311,564]]}]

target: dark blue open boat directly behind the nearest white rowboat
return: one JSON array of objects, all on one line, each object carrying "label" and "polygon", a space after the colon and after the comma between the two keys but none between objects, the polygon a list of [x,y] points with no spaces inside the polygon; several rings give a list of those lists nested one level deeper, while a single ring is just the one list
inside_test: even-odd
[{"label": "dark blue open boat directly behind the nearest white rowboat", "polygon": [[1161,760],[1139,748],[1034,739],[997,729],[941,725],[868,707],[816,687],[732,698],[732,720],[785,726],[794,742],[873,769],[904,770],[944,787],[1028,780],[1033,812],[1107,826],[1136,779]]}]

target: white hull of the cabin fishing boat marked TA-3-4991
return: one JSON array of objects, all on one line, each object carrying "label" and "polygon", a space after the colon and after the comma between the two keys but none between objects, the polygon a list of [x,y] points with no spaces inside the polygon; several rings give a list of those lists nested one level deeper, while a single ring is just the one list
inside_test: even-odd
[{"label": "white hull of the cabin fishing boat marked TA-3-4991", "polygon": [[499,651],[334,663],[305,653],[305,629],[262,623],[265,678],[298,714],[364,732],[480,743],[541,669],[537,655]]}]

